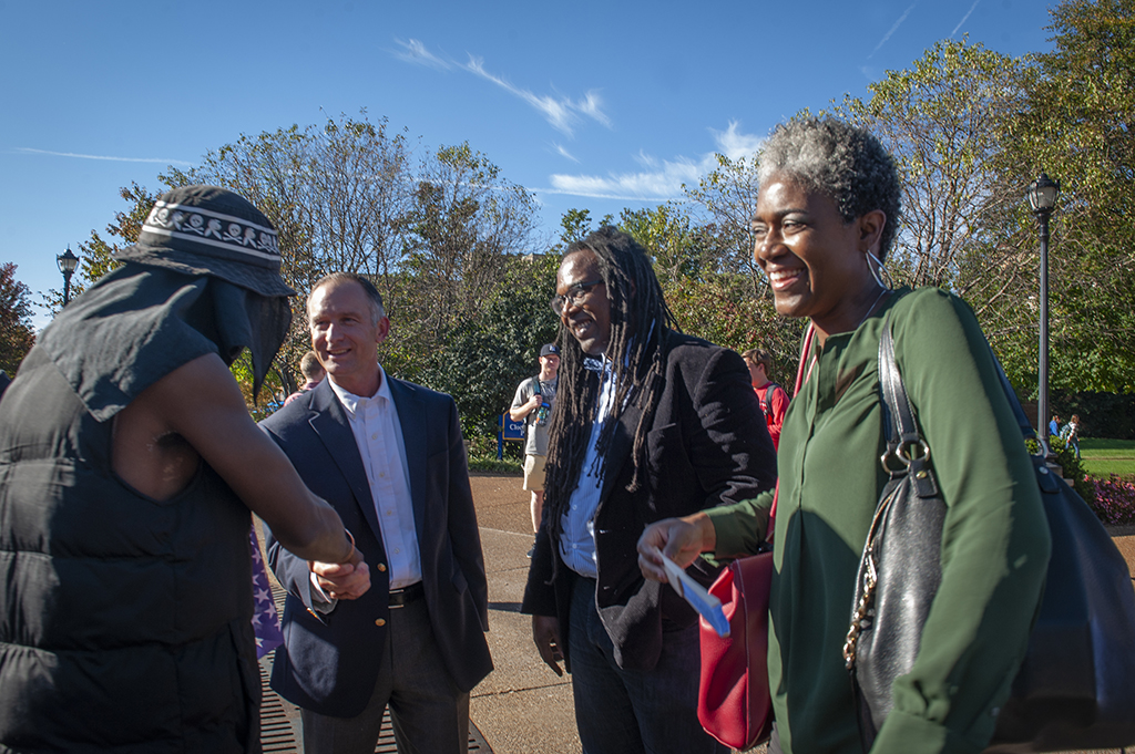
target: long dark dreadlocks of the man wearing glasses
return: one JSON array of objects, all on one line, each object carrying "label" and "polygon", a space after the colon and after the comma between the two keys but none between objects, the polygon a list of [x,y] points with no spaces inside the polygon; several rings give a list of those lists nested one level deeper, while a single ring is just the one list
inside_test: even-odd
[{"label": "long dark dreadlocks of the man wearing glasses", "polygon": [[[611,415],[598,438],[597,463],[611,447],[617,420],[630,400],[641,409],[634,431],[631,457],[634,474],[628,490],[639,489],[640,471],[646,464],[646,435],[654,421],[666,367],[666,334],[678,330],[673,314],[662,295],[662,286],[646,251],[628,234],[604,226],[583,240],[568,247],[564,259],[579,252],[590,252],[598,263],[599,277],[611,300],[611,341],[607,356],[612,359],[615,399]],[[560,321],[560,387],[548,426],[547,474],[545,478],[546,515],[553,541],[561,533],[561,516],[583,472],[591,425],[599,409],[600,380],[585,366],[579,341]]]}]

